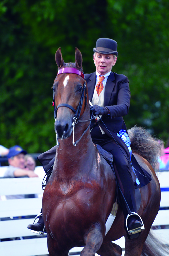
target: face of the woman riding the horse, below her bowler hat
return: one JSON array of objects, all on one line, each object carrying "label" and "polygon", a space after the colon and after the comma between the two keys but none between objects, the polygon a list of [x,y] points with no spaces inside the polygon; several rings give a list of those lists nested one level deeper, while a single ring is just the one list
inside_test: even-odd
[{"label": "face of the woman riding the horse, below her bowler hat", "polygon": [[105,75],[112,70],[112,66],[115,65],[117,58],[114,58],[113,54],[97,53],[93,56],[93,60],[96,66],[96,70],[100,75]]}]

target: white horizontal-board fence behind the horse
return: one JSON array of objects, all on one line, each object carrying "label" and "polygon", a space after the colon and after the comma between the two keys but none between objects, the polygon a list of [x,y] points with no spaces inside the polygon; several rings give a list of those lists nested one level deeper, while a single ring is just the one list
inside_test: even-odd
[{"label": "white horizontal-board fence behind the horse", "polygon": [[[27,225],[33,223],[34,216],[40,212],[42,206],[43,190],[41,184],[44,172],[41,168],[37,170],[38,172],[41,178],[0,179],[1,256],[48,255],[46,235],[36,235],[27,229]],[[162,209],[159,210],[153,226],[161,228],[154,230],[154,232],[160,238],[169,241],[169,172],[160,172],[159,181],[162,190],[160,204],[160,209]],[[30,194],[35,194],[36,197],[7,199],[10,195]],[[124,250],[124,238],[120,238],[115,243],[119,244]],[[80,252],[80,250],[82,248],[73,248],[69,254],[74,255],[75,252]]]}]

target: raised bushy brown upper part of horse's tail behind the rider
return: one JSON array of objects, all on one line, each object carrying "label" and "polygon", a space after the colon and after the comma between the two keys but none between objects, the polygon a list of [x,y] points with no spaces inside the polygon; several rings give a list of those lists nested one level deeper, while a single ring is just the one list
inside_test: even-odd
[{"label": "raised bushy brown upper part of horse's tail behind the rider", "polygon": [[145,158],[155,171],[158,171],[158,156],[160,156],[160,143],[146,129],[134,126],[128,130],[131,140],[132,152]]}]

